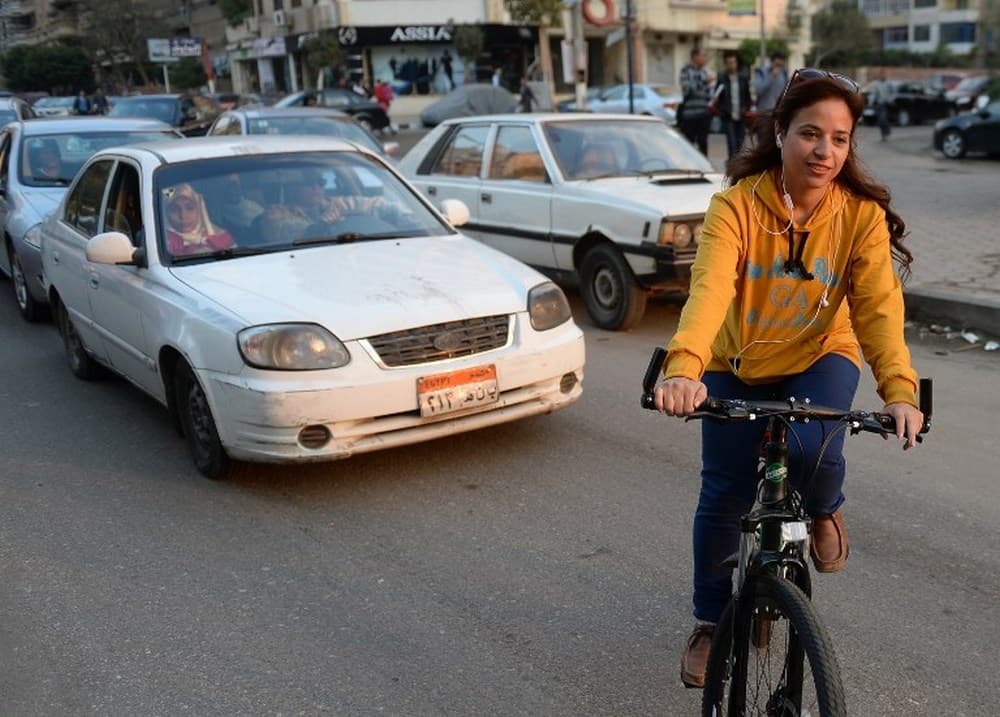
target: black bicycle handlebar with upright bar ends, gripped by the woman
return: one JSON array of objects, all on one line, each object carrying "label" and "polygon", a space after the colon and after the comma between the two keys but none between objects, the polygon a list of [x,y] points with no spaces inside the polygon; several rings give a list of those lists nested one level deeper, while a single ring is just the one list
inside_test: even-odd
[{"label": "black bicycle handlebar with upright bar ends, gripped by the woman", "polygon": [[[641,405],[645,409],[656,410],[654,390],[656,380],[663,369],[666,350],[656,347],[646,367],[642,379]],[[933,409],[934,383],[932,379],[920,379],[920,411],[924,414],[924,425],[920,433],[924,434],[931,428],[931,411]],[[814,405],[809,399],[786,401],[744,401],[742,399],[707,398],[688,418],[720,418],[727,421],[753,421],[766,416],[786,416],[802,420],[845,421],[851,433],[868,431],[881,435],[895,435],[896,421],[887,413],[871,411],[842,411],[837,408]],[[917,441],[922,441],[921,435]]]}]

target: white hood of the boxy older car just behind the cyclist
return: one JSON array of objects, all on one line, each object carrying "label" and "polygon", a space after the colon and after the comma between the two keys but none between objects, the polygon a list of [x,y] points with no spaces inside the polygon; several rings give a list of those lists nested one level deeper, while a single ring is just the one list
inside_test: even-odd
[{"label": "white hood of the boxy older car just behind the cyclist", "polygon": [[[619,205],[655,207],[668,216],[704,214],[712,195],[722,191],[722,175],[662,174],[653,177],[609,177],[576,181],[580,195],[592,201],[614,198]],[[576,192],[574,192],[576,193]]]}]

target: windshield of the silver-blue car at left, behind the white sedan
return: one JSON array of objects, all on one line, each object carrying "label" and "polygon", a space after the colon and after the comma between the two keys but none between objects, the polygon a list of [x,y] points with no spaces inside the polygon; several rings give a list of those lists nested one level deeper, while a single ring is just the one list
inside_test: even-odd
[{"label": "windshield of the silver-blue car at left, behind the white sedan", "polygon": [[26,137],[19,180],[29,187],[69,186],[77,170],[99,149],[175,138],[168,130],[84,130]]}]

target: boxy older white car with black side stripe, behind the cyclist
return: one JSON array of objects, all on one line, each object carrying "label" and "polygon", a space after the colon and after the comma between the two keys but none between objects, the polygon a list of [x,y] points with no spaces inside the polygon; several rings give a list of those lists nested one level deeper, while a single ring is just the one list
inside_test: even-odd
[{"label": "boxy older white car with black side stripe, behind the cyclist", "polygon": [[634,326],[646,298],[686,290],[722,176],[663,120],[549,113],[448,120],[400,160],[435,200],[461,199],[466,233],[579,283],[593,322]]}]

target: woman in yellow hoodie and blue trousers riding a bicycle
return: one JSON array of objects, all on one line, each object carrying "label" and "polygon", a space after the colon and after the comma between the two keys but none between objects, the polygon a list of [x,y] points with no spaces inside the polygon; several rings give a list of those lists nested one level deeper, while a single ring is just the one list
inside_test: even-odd
[{"label": "woman in yellow hoodie and blue trousers riding a bicycle", "polygon": [[[822,70],[797,71],[756,143],[730,160],[728,189],[713,197],[692,267],[689,298],[667,346],[656,407],[685,416],[706,396],[809,398],[848,409],[864,354],[897,425],[915,445],[923,417],[903,336],[905,224],[857,157],[864,109],[857,84]],[[702,422],[702,485],[694,518],[695,629],[681,679],[704,685],[715,623],[732,594],[739,517],[754,500],[764,422]],[[790,475],[816,466],[828,427],[796,424]],[[811,556],[820,572],[847,559],[840,507],[844,433],[826,446],[808,486]]]}]

